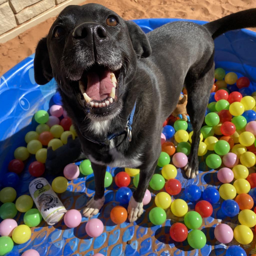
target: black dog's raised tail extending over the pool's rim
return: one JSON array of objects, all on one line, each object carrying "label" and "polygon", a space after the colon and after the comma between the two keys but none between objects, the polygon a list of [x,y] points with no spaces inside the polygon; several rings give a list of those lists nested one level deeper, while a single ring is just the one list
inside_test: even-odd
[{"label": "black dog's raised tail extending over the pool's rim", "polygon": [[213,39],[229,30],[256,27],[256,8],[230,14],[203,26],[207,28]]}]

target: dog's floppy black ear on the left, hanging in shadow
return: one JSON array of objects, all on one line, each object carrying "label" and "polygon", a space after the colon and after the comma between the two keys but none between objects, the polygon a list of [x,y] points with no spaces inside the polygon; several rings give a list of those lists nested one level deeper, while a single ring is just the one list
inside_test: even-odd
[{"label": "dog's floppy black ear on the left, hanging in shadow", "polygon": [[52,69],[47,49],[47,37],[43,37],[36,47],[34,72],[37,84],[43,85],[52,79]]}]

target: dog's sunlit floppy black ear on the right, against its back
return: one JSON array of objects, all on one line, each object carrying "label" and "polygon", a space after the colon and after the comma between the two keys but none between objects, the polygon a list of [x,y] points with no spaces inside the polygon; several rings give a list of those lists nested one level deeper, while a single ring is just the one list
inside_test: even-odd
[{"label": "dog's sunlit floppy black ear on the right, against its back", "polygon": [[125,21],[125,23],[128,27],[132,46],[136,54],[143,58],[149,57],[152,50],[146,34],[136,23],[130,20]]}]

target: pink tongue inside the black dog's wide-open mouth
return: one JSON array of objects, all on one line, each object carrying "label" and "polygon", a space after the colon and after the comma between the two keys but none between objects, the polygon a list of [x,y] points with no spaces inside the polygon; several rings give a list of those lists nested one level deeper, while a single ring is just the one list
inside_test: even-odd
[{"label": "pink tongue inside the black dog's wide-open mouth", "polygon": [[105,70],[102,73],[90,72],[87,74],[86,94],[93,100],[104,100],[108,98],[113,86],[110,79],[110,71]]}]

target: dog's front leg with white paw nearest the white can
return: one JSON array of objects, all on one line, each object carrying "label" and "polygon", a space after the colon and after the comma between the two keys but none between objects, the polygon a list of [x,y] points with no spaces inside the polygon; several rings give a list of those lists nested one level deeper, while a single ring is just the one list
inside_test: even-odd
[{"label": "dog's front leg with white paw nearest the white can", "polygon": [[106,173],[106,166],[98,165],[91,163],[93,173],[94,173],[94,181],[95,181],[95,195],[87,202],[85,208],[83,209],[83,215],[85,217],[90,217],[99,212],[101,207],[104,204],[104,179]]}]

